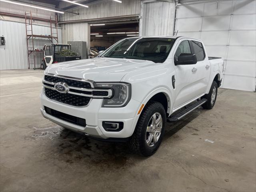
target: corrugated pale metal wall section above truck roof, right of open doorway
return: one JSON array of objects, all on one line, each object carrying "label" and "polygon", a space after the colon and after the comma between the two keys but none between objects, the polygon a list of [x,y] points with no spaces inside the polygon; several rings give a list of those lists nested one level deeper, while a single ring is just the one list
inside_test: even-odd
[{"label": "corrugated pale metal wall section above truck roof, right of open doorway", "polygon": [[141,2],[140,35],[173,35],[174,2]]}]

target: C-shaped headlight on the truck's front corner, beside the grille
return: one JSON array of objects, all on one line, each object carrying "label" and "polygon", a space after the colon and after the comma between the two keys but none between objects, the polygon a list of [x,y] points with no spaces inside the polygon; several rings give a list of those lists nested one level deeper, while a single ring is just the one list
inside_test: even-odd
[{"label": "C-shaped headlight on the truck's front corner, beside the grille", "polygon": [[129,83],[94,83],[95,88],[111,88],[114,95],[104,99],[102,107],[124,107],[131,99],[131,84]]}]

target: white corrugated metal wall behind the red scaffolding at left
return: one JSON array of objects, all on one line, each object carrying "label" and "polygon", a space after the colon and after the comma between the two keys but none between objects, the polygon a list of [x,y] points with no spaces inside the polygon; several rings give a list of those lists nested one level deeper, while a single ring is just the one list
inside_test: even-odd
[{"label": "white corrugated metal wall behind the red scaffolding at left", "polygon": [[[50,27],[33,25],[33,34],[50,34]],[[0,20],[0,36],[4,36],[6,45],[0,46],[0,70],[27,69],[28,54],[26,44],[25,23]],[[61,29],[58,29],[59,43],[62,42]],[[50,43],[45,38],[36,38],[34,48],[41,49],[44,44]],[[37,53],[39,55],[39,53]],[[40,67],[42,53],[36,61],[36,68]],[[33,67],[33,66],[32,66]]]}]

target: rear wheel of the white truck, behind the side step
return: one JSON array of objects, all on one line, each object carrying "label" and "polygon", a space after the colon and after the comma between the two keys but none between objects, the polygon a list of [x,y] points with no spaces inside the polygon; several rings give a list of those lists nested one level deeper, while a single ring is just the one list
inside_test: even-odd
[{"label": "rear wheel of the white truck, behind the side step", "polygon": [[207,99],[207,101],[202,105],[204,109],[213,108],[217,99],[217,92],[218,92],[218,84],[216,81],[213,81],[209,93],[203,96],[203,98]]}]

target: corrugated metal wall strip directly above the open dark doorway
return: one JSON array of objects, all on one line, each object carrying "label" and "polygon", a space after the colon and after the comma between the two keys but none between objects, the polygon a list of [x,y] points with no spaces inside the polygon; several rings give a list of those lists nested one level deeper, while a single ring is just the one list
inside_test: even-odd
[{"label": "corrugated metal wall strip directly above the open dark doorway", "polygon": [[[61,4],[65,4],[66,6],[70,5],[67,5],[66,2],[61,2],[60,8],[64,6]],[[122,3],[106,1],[92,5],[90,8],[78,7],[72,10],[72,12],[79,12],[79,15],[65,13],[60,15],[60,20],[81,20],[140,14],[140,0],[123,0]]]}]

